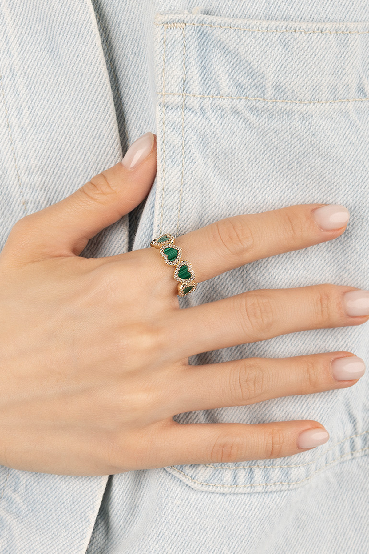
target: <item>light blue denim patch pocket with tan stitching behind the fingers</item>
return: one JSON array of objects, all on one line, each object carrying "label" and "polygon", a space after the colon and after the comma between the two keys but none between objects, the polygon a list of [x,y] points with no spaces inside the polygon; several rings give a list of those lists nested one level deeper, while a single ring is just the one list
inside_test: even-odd
[{"label": "light blue denim patch pocket with tan stitching behind the fingers", "polygon": [[[154,236],[300,203],[344,204],[351,212],[339,239],[205,281],[180,299],[181,307],[259,288],[368,288],[369,24],[181,13],[157,14],[155,28]],[[335,350],[368,360],[367,324],[199,353],[190,363]],[[368,392],[364,376],[339,391],[177,414],[184,424],[314,419],[331,438],[288,458],[165,469],[212,492],[302,486],[325,468],[368,453]]]}]

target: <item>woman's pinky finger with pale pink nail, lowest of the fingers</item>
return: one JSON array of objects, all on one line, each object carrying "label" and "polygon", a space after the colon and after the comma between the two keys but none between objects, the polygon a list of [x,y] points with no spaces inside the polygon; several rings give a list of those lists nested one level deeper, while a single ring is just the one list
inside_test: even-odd
[{"label": "woman's pinky finger with pale pink nail, lowest of the fingers", "polygon": [[310,419],[257,424],[173,423],[162,430],[165,445],[160,450],[165,459],[157,460],[157,467],[284,458],[329,440],[323,425]]}]

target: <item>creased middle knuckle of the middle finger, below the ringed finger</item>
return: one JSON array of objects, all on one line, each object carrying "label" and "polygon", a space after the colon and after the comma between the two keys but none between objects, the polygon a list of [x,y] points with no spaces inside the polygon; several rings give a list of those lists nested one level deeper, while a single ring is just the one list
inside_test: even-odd
[{"label": "creased middle knuckle of the middle finger, below the ringed finger", "polygon": [[250,331],[255,335],[268,334],[273,329],[276,320],[275,307],[270,293],[260,290],[246,293],[243,295],[243,300],[245,302],[242,310],[245,335],[249,335]]}]

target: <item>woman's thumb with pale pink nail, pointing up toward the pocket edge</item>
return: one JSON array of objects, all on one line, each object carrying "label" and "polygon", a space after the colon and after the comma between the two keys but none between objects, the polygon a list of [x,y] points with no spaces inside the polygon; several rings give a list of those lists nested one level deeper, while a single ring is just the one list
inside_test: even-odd
[{"label": "woman's thumb with pale pink nail, pointing up toward the pocket edge", "polygon": [[15,223],[2,255],[22,263],[79,255],[88,240],[147,196],[157,171],[156,137],[148,132],[121,162],[102,171],[67,198]]}]

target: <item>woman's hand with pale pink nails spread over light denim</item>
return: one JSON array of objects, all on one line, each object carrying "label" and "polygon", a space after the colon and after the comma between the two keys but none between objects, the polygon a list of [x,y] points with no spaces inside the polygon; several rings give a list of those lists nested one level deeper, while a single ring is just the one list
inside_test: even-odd
[{"label": "woman's hand with pale pink nails spread over light denim", "polygon": [[[360,325],[369,314],[364,291],[330,284],[256,290],[180,310],[173,269],[157,249],[79,257],[93,235],[147,195],[154,139],[144,135],[125,166],[117,163],[11,230],[0,255],[0,464],[107,475],[290,456],[312,445],[309,429],[322,439],[324,427],[314,420],[178,424],[172,417],[346,388],[365,369],[349,352],[188,365],[200,352]],[[319,206],[222,219],[176,244],[200,283],[339,237],[347,211]]]}]

